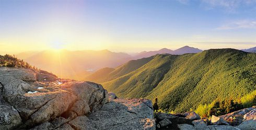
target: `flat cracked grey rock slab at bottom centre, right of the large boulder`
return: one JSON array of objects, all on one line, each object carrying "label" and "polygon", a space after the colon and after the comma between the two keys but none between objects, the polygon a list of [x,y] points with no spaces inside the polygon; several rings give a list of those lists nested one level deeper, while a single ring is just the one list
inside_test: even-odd
[{"label": "flat cracked grey rock slab at bottom centre, right of the large boulder", "polygon": [[153,116],[150,100],[117,98],[68,124],[74,129],[155,129]]}]

